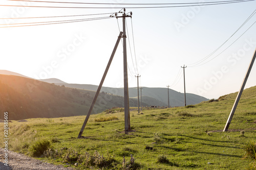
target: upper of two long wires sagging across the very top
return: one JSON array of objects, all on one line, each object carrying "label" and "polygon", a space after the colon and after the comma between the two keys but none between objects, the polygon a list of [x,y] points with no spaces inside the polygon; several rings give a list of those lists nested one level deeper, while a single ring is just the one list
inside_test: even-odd
[{"label": "upper of two long wires sagging across the very top", "polygon": [[230,2],[241,2],[245,0],[234,0],[234,1],[218,1],[218,2],[196,2],[196,3],[78,3],[78,2],[56,2],[56,1],[30,1],[30,0],[8,0],[8,1],[19,1],[19,2],[36,2],[36,3],[60,3],[60,4],[87,4],[87,5],[190,5],[190,4],[212,4],[212,3],[230,3]]}]

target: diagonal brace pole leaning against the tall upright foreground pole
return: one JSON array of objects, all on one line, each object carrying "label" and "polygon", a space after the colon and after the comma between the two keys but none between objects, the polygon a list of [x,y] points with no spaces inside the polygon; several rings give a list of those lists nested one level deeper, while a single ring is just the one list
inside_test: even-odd
[{"label": "diagonal brace pole leaning against the tall upright foreground pole", "polygon": [[79,133],[79,135],[78,135],[77,138],[80,138],[80,137],[82,136],[83,130],[84,130],[84,128],[86,127],[86,124],[87,124],[87,122],[88,122],[88,119],[89,119],[89,117],[90,117],[90,115],[91,115],[91,112],[92,112],[92,110],[93,110],[93,106],[94,106],[94,104],[96,103],[96,100],[97,100],[97,98],[98,98],[100,89],[101,89],[101,87],[102,87],[102,85],[103,85],[103,82],[104,82],[104,80],[105,80],[106,74],[107,74],[108,71],[109,71],[111,62],[112,62],[112,60],[113,60],[113,58],[114,58],[114,55],[115,55],[115,53],[116,53],[117,46],[118,46],[118,44],[119,44],[119,42],[120,42],[120,39],[122,38],[122,34],[123,34],[123,32],[120,32],[120,34],[119,34],[119,36],[118,36],[118,39],[117,39],[117,41],[116,41],[116,45],[115,45],[115,47],[114,47],[114,50],[113,50],[113,52],[112,52],[112,54],[111,54],[109,63],[108,63],[108,65],[106,66],[105,72],[104,72],[104,74],[103,74],[103,76],[102,76],[101,82],[100,82],[99,87],[98,87],[98,89],[97,89],[97,91],[96,91],[96,94],[95,94],[95,96],[94,96],[94,99],[93,99],[93,102],[92,102],[92,104],[91,104],[91,107],[90,107],[90,109],[89,109],[89,111],[88,111],[88,113],[87,113],[86,119],[85,119],[84,122],[83,122],[82,128],[81,128],[80,133]]}]

